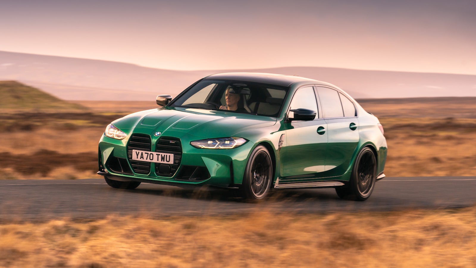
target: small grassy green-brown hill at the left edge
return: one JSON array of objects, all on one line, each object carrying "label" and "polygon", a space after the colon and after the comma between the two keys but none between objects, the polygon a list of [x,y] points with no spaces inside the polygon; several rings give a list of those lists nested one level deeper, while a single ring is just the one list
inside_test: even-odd
[{"label": "small grassy green-brown hill at the left edge", "polygon": [[16,81],[0,81],[0,112],[84,112],[88,108],[60,100]]}]

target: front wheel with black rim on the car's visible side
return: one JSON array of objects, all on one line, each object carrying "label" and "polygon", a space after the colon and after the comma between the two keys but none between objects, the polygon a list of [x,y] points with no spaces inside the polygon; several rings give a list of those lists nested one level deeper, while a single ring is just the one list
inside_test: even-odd
[{"label": "front wheel with black rim on the car's visible side", "polygon": [[248,200],[260,200],[268,195],[273,180],[273,164],[265,146],[257,146],[246,164],[241,196]]}]

